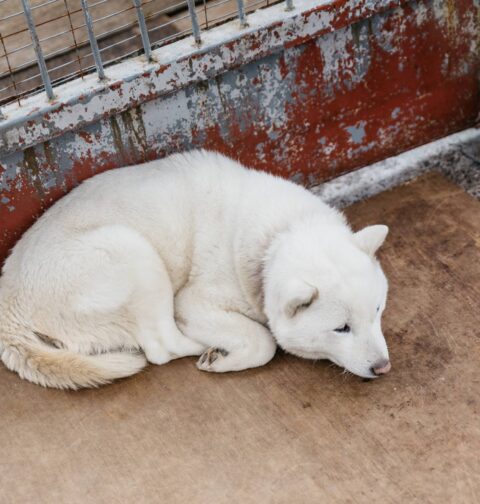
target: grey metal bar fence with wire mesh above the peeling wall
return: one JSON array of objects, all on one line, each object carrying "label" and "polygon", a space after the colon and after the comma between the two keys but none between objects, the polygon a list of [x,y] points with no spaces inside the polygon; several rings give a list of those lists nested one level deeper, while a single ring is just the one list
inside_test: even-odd
[{"label": "grey metal bar fence with wire mesh above the peeling wall", "polygon": [[[285,0],[292,9],[293,0]],[[276,3],[272,0],[0,0],[0,105],[144,54]],[[0,108],[1,118],[1,108]]]}]

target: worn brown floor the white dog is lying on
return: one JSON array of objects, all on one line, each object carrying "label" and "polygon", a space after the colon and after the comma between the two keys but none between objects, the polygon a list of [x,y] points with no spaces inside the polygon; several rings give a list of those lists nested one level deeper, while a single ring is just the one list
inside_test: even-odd
[{"label": "worn brown floor the white dog is lying on", "polygon": [[0,502],[478,502],[480,203],[435,174],[346,213],[391,228],[389,376],[279,352],[72,393],[1,367]]}]

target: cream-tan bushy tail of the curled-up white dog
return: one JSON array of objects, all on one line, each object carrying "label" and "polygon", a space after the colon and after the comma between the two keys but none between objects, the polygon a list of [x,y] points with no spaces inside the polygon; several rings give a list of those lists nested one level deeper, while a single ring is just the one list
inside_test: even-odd
[{"label": "cream-tan bushy tail of the curled-up white dog", "polygon": [[138,373],[147,363],[143,354],[130,351],[85,355],[56,348],[34,333],[3,341],[0,336],[0,355],[25,380],[60,389],[98,387]]}]

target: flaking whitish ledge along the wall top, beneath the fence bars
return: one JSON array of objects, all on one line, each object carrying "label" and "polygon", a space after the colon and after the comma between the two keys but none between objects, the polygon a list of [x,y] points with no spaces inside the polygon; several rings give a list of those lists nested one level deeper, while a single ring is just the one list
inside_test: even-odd
[{"label": "flaking whitish ledge along the wall top, beneath the fence bars", "polygon": [[153,61],[132,58],[110,67],[108,79],[87,75],[55,88],[55,99],[44,94],[4,107],[0,123],[0,158],[50,140],[139,105],[216,77],[284,47],[370,17],[405,0],[297,0],[286,12],[283,4],[259,10],[248,18],[204,32],[202,45],[186,38],[153,52]]}]

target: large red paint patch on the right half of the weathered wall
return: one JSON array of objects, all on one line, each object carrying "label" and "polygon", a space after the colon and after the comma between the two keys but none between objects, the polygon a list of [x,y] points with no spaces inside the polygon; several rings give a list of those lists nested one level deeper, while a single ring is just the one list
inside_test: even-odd
[{"label": "large red paint patch on the right half of the weathered wall", "polygon": [[[460,14],[467,12],[469,5],[463,2]],[[407,15],[413,13],[410,6],[405,11]],[[389,20],[386,30],[393,27],[394,20]],[[321,182],[473,124],[480,98],[477,79],[480,61],[477,58],[464,76],[445,76],[441,70],[445,52],[452,54],[452,58],[460,57],[468,50],[470,40],[453,41],[451,37],[455,34],[439,31],[434,19],[423,26],[421,34],[413,24],[406,24],[404,30],[402,54],[407,54],[410,60],[404,68],[399,66],[399,53],[383,50],[371,34],[367,75],[353,89],[342,85],[354,64],[352,47],[347,47],[351,65],[345,65],[343,78],[340,72],[339,89],[332,96],[325,92],[324,62],[315,41],[305,44],[295,68],[281,58],[282,78],[293,72],[296,90],[292,92],[292,102],[286,106],[287,120],[277,131],[278,142],[267,137],[264,120],[242,131],[230,117],[229,141],[214,125],[206,132],[194,130],[193,143],[237,157],[258,169],[285,177],[301,174],[305,181]],[[257,83],[257,78],[252,79],[252,85]],[[318,92],[308,95],[302,89]],[[242,103],[245,110],[254,106]],[[356,146],[346,127],[359,122],[366,127],[361,144]],[[327,151],[320,138],[335,149]],[[257,155],[260,144],[264,146],[264,160]],[[287,159],[278,162],[282,150],[287,152]]]}]

